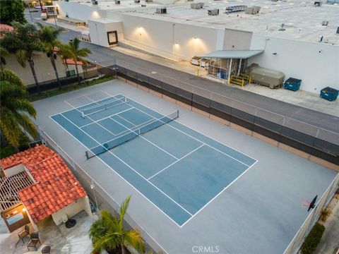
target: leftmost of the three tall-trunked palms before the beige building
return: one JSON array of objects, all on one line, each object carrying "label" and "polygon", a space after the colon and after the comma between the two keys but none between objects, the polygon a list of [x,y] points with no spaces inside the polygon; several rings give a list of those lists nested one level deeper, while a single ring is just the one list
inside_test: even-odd
[{"label": "leftmost of the three tall-trunked palms before the beige building", "polygon": [[3,45],[8,52],[16,55],[16,60],[21,66],[25,67],[28,61],[35,85],[37,85],[37,92],[40,94],[41,90],[35,73],[33,53],[43,52],[44,46],[40,42],[37,29],[34,25],[15,22],[13,23],[13,28],[13,32],[5,32],[5,36],[1,40],[1,45]]}]

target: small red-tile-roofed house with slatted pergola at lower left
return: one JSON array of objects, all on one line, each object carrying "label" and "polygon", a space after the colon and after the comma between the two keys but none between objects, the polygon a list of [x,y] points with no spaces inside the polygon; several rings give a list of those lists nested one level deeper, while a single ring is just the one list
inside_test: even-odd
[{"label": "small red-tile-roofed house with slatted pergola at lower left", "polygon": [[55,224],[66,222],[85,210],[88,195],[66,163],[45,145],[0,160],[0,211],[10,231],[52,216]]}]

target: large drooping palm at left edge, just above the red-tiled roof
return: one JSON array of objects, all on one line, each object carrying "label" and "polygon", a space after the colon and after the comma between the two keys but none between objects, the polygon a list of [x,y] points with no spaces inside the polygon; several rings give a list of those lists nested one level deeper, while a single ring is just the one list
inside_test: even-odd
[{"label": "large drooping palm at left edge, just above the red-tiled roof", "polygon": [[[0,132],[8,143],[18,147],[20,140],[26,137],[23,129],[32,137],[37,135],[30,116],[36,117],[33,105],[25,99],[26,87],[12,71],[0,70]],[[27,137],[26,137],[27,138]]]}]

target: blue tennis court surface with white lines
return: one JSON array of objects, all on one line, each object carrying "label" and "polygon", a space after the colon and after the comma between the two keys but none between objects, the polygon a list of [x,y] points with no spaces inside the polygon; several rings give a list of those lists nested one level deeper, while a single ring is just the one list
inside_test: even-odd
[{"label": "blue tennis court surface with white lines", "polygon": [[84,156],[101,159],[178,226],[256,163],[170,121],[176,112],[163,116],[124,95],[66,103],[73,109],[50,117],[84,145]]}]

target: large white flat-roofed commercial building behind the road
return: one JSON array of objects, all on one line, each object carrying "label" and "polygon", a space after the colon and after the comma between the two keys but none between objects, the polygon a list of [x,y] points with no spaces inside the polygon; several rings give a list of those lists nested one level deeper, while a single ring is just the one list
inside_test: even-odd
[{"label": "large white flat-roofed commercial building behind the road", "polygon": [[[91,41],[124,44],[168,59],[189,60],[219,50],[262,50],[248,65],[302,79],[301,90],[339,89],[338,4],[305,1],[54,1],[60,16],[85,20]],[[237,8],[243,6],[242,11]],[[245,8],[245,7],[246,8]],[[258,8],[253,8],[258,7]],[[217,15],[208,11],[219,10]],[[258,13],[253,10],[258,10]],[[162,10],[162,11],[161,11]],[[252,10],[252,11],[250,11]],[[209,12],[210,13],[210,12]]]}]

